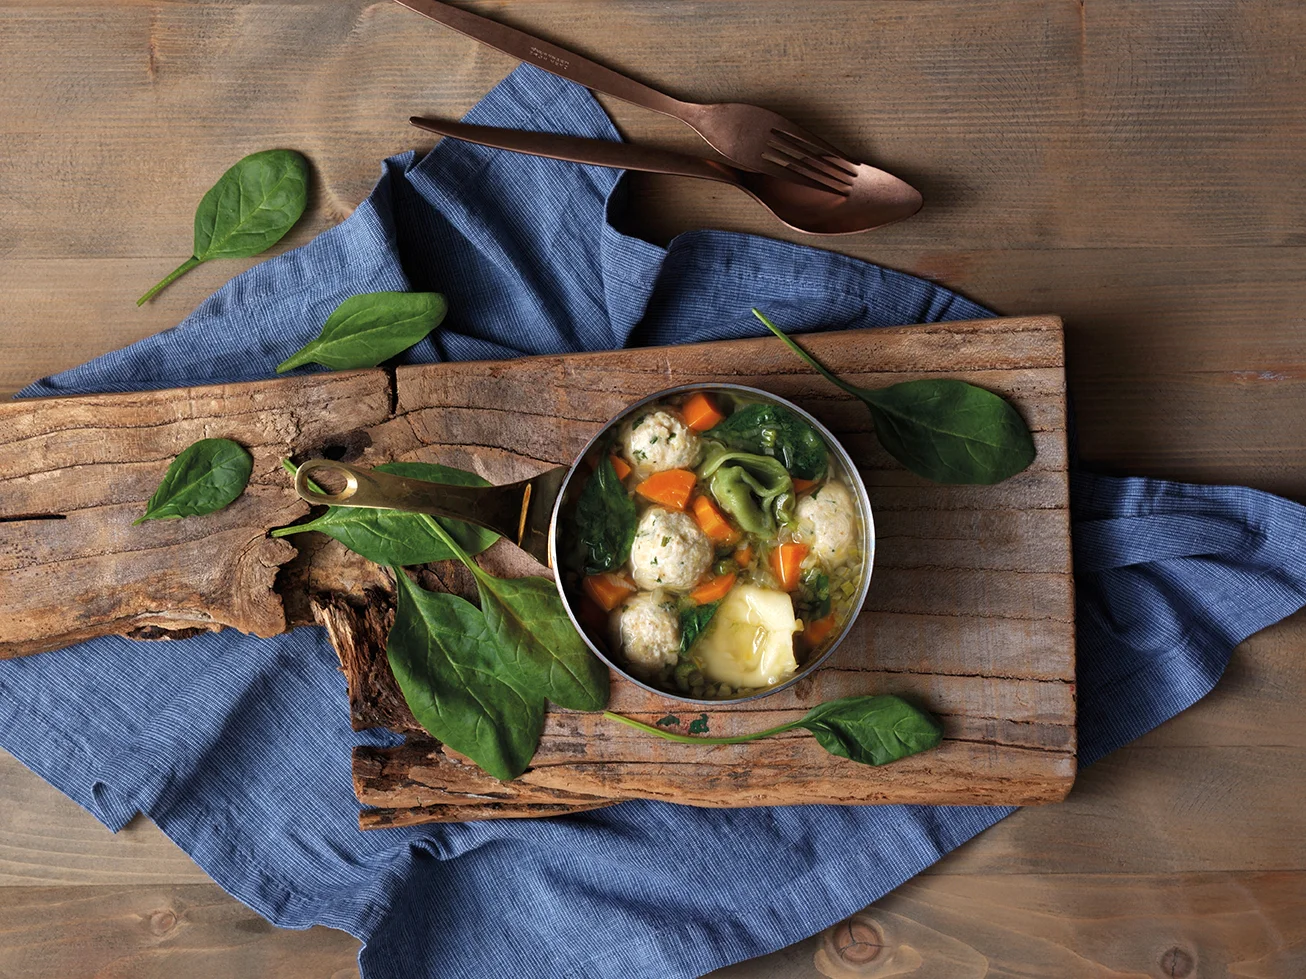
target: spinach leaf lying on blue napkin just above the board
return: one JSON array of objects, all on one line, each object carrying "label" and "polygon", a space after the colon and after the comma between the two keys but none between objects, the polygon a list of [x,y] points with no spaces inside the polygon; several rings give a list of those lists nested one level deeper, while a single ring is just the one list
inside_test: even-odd
[{"label": "spinach leaf lying on blue napkin just above the board", "polygon": [[376,367],[402,354],[440,325],[447,311],[439,292],[363,292],[326,317],[317,339],[277,365],[285,373],[303,364],[332,371]]}]

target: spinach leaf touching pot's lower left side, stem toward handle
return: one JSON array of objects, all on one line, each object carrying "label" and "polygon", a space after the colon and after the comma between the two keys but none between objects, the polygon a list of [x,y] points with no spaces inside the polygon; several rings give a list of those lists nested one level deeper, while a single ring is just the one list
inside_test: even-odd
[{"label": "spinach leaf touching pot's lower left side, stem toward handle", "polygon": [[524,693],[571,710],[607,704],[609,675],[576,632],[549,578],[496,578],[471,560],[434,518],[427,526],[475,576],[481,611],[503,653],[504,675]]}]

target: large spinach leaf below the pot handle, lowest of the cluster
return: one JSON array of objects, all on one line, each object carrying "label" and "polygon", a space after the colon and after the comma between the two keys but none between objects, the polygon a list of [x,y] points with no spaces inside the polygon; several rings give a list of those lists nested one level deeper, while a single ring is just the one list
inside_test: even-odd
[{"label": "large spinach leaf below the pot handle, lowest of the cluster", "polygon": [[413,717],[495,778],[530,765],[545,701],[507,683],[485,616],[457,595],[418,587],[394,568],[398,604],[385,644]]}]

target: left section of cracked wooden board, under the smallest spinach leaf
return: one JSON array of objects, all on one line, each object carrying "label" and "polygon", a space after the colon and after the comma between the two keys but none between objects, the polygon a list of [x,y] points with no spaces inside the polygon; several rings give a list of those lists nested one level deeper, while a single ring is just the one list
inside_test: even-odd
[{"label": "left section of cracked wooden board, under the smallest spinach leaf", "polygon": [[[0,405],[0,657],[107,634],[283,632],[274,585],[295,550],[266,531],[308,506],[281,459],[388,412],[384,372]],[[246,492],[218,513],[132,526],[168,462],[205,437],[253,454]]]}]

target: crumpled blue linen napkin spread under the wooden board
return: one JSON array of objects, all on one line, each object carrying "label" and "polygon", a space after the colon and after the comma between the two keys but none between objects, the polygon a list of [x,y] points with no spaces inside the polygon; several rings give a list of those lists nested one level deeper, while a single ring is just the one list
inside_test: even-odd
[{"label": "crumpled blue linen napkin spread under the wooden board", "polygon": [[[585,90],[532,68],[470,119],[618,138]],[[752,305],[795,330],[991,315],[831,252],[627,238],[607,221],[618,176],[453,141],[396,157],[338,227],[176,329],[24,394],[269,377],[341,300],[374,290],[449,298],[414,362],[759,335]],[[1286,500],[1076,473],[1072,514],[1081,764],[1194,704],[1234,645],[1306,604],[1306,509]],[[350,749],[393,741],[350,731],[319,629],[225,632],[167,655],[104,638],[0,663],[7,749],[114,829],[148,813],[270,922],[358,936],[367,979],[696,976],[838,920],[1012,812],[627,803],[360,833]]]}]

